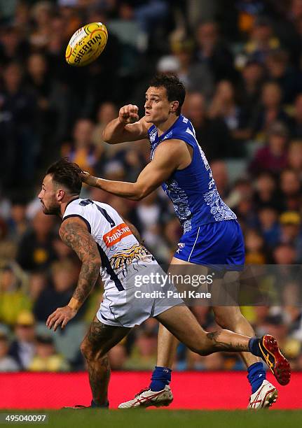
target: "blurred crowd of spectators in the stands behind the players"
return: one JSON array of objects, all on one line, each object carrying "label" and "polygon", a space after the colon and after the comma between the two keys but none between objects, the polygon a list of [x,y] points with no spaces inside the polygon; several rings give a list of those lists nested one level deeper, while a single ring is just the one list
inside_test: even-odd
[{"label": "blurred crowd of spectators in the stands behind the players", "polygon": [[[64,51],[87,22],[109,29],[90,66]],[[0,371],[85,369],[79,344],[102,299],[97,285],[64,331],[45,322],[68,303],[78,259],[60,241],[59,220],[36,195],[48,164],[68,157],[85,171],[133,181],[148,141],[108,145],[102,129],[124,104],[144,115],[157,71],[186,86],[182,113],[195,127],[221,197],[245,234],[248,264],[302,262],[302,0],[0,0]],[[83,187],[137,226],[167,264],[181,229],[161,190],[139,203]],[[247,306],[256,334],[280,341],[302,370],[300,282],[284,304]],[[300,297],[299,297],[300,293]],[[192,308],[208,331],[209,308]],[[113,369],[152,369],[158,323],[148,320],[110,351]],[[179,345],[174,369],[242,369],[233,354],[200,357]]]}]

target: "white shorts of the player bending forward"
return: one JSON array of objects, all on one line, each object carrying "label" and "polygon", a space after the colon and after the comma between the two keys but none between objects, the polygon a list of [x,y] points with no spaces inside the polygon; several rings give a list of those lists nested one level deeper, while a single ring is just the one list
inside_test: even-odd
[{"label": "white shorts of the player bending forward", "polygon": [[97,311],[97,319],[103,324],[115,327],[135,327],[173,306],[184,305],[184,301],[177,297],[177,290],[173,284],[166,284],[165,287],[160,283],[134,285],[134,276],[145,275],[150,271],[165,275],[158,264],[152,264],[147,269],[139,269],[128,276],[128,287],[125,287],[125,290],[119,291],[116,287],[105,290],[103,301]]}]

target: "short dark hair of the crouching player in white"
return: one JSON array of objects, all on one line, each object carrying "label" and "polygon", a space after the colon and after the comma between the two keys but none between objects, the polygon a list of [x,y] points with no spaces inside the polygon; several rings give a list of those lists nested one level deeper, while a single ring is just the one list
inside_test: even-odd
[{"label": "short dark hair of the crouching player in white", "polygon": [[62,158],[50,165],[46,175],[50,174],[55,183],[64,185],[71,194],[80,194],[82,188],[81,172],[78,164],[69,162],[67,158]]}]

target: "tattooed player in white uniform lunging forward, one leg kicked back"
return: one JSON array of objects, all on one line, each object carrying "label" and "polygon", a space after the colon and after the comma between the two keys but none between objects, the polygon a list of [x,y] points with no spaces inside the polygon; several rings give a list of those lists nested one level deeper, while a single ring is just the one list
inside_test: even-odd
[{"label": "tattooed player in white uniform lunging forward, one leg kicked back", "polygon": [[[125,224],[114,208],[79,198],[81,185],[81,169],[76,164],[60,159],[46,172],[39,199],[45,214],[62,218],[60,238],[76,252],[82,262],[73,297],[67,306],[57,308],[49,315],[47,327],[54,330],[64,328],[87,299],[99,275],[104,283],[104,300],[81,344],[81,351],[88,364],[92,407],[109,406],[107,390],[110,367],[107,352],[128,334],[131,327],[151,316],[199,355],[222,350],[252,352],[271,364],[278,380],[288,383],[289,363],[272,336],[250,338],[224,329],[207,333],[181,299],[133,299],[133,294],[128,294],[135,287],[128,278],[129,272],[130,281],[135,278],[132,266],[135,264],[134,271],[142,269],[144,272],[146,266],[158,269],[158,264],[140,245],[135,228]],[[176,289],[171,284],[169,290]],[[272,355],[266,352],[268,343],[270,350],[273,350]],[[167,403],[171,401],[170,394],[170,388],[167,387]],[[158,395],[160,405],[163,405],[163,392],[146,391],[141,400],[156,406]]]}]

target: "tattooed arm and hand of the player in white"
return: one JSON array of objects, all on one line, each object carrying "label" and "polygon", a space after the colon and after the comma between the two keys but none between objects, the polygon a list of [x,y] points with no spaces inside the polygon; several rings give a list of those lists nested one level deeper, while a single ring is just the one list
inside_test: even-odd
[{"label": "tattooed arm and hand of the player in white", "polygon": [[69,304],[63,308],[57,308],[46,321],[46,326],[50,329],[53,327],[54,331],[60,324],[63,329],[67,322],[74,318],[95,286],[101,266],[97,244],[83,220],[78,217],[69,217],[62,222],[59,234],[62,241],[76,252],[82,266],[78,276],[78,285]]}]

